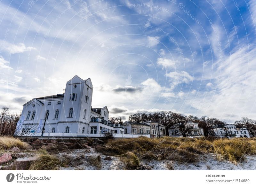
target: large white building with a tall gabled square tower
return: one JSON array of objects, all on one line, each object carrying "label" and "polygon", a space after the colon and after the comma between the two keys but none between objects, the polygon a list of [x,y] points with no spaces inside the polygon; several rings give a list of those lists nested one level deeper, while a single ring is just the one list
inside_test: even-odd
[{"label": "large white building with a tall gabled square tower", "polygon": [[[65,93],[33,98],[23,105],[17,130],[24,133],[123,134],[120,124],[108,121],[108,108],[92,108],[91,79],[77,75],[66,84]],[[44,130],[43,130],[44,128]]]}]

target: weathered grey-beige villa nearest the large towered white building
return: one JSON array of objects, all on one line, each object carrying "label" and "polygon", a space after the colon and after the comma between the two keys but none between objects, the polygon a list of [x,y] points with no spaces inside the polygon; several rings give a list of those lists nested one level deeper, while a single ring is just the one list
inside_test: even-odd
[{"label": "weathered grey-beige villa nearest the large towered white building", "polygon": [[161,123],[158,124],[155,121],[146,121],[143,123],[125,121],[123,126],[124,134],[153,134],[155,137],[157,137],[160,133],[160,137],[166,136],[164,125]]}]

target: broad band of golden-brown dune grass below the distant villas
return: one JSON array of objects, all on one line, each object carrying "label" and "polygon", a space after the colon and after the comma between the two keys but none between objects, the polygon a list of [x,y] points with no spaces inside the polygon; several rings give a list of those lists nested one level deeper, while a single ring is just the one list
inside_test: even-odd
[{"label": "broad band of golden-brown dune grass below the distant villas", "polygon": [[215,153],[218,159],[236,163],[243,160],[245,154],[256,153],[256,139],[126,138],[108,140],[98,151],[122,157],[133,152],[140,159],[170,159],[180,162],[196,162],[200,154]]}]

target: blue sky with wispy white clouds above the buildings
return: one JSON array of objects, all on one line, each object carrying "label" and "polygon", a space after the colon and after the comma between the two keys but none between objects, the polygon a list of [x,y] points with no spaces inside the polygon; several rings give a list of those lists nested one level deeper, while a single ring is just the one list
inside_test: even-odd
[{"label": "blue sky with wispy white clouds above the buildings", "polygon": [[91,78],[111,116],[256,119],[252,1],[1,1],[0,106]]}]

